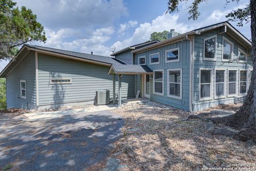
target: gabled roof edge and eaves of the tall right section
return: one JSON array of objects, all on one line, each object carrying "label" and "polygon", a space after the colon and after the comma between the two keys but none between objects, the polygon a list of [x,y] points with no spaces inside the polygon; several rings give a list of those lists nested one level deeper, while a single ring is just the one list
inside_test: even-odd
[{"label": "gabled roof edge and eaves of the tall right section", "polygon": [[247,39],[241,32],[239,32],[235,27],[233,27],[228,21],[223,21],[220,23],[216,23],[214,25],[198,28],[192,31],[185,32],[184,34],[181,34],[179,36],[172,37],[170,39],[164,40],[162,42],[158,42],[152,45],[148,45],[146,47],[139,48],[138,50],[133,50],[131,53],[139,53],[143,51],[150,50],[151,48],[161,47],[165,46],[167,44],[170,44],[174,41],[181,40],[181,39],[187,39],[188,36],[192,35],[200,35],[202,32],[210,31],[213,29],[219,28],[219,32],[227,32],[231,37],[237,40],[237,42],[240,42],[243,44],[245,48],[251,48],[251,41]]}]

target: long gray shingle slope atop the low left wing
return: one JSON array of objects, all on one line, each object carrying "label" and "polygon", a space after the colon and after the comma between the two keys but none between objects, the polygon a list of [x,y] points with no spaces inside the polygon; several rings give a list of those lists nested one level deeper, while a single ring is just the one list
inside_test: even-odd
[{"label": "long gray shingle slope atop the low left wing", "polygon": [[103,62],[103,63],[108,63],[108,64],[115,64],[115,65],[125,64],[122,61],[119,61],[117,59],[110,58],[110,57],[107,57],[107,56],[91,55],[91,54],[86,54],[86,53],[65,51],[65,50],[59,50],[57,48],[50,48],[50,47],[43,47],[43,46],[36,46],[36,45],[28,45],[28,44],[26,46],[31,47],[31,48],[36,48],[38,50],[54,52],[54,53],[59,53],[59,54],[65,54],[65,55],[75,56],[75,57],[78,57],[78,58],[83,58],[83,59],[88,59],[88,60]]}]

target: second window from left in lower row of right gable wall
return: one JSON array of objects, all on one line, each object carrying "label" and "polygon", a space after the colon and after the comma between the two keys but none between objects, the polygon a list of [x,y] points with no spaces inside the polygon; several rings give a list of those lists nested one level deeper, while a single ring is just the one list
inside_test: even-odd
[{"label": "second window from left in lower row of right gable wall", "polygon": [[215,97],[225,96],[225,70],[215,70]]}]

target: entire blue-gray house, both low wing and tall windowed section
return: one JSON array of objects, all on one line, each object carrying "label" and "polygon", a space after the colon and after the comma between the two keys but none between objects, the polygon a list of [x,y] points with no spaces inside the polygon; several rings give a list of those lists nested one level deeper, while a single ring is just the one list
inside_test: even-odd
[{"label": "entire blue-gray house, both low wing and tall windowed section", "polygon": [[244,99],[252,47],[229,22],[168,38],[125,48],[115,58],[25,45],[0,74],[6,77],[7,107],[88,104],[97,89],[110,89],[119,105],[140,91],[141,97],[188,111]]}]

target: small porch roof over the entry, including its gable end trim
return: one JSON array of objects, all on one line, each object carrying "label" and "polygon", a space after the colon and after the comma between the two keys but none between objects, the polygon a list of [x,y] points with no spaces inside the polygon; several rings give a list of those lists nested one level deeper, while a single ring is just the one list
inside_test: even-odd
[{"label": "small porch roof over the entry, including its gable end trim", "polygon": [[146,65],[126,64],[125,66],[112,65],[108,74],[153,74],[153,71]]}]

